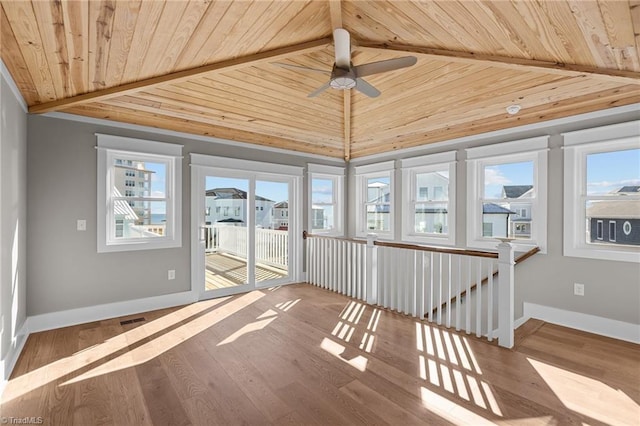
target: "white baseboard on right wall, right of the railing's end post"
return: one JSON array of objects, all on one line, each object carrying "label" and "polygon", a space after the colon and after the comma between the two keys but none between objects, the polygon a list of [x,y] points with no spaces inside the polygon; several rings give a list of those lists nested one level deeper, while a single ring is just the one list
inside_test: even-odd
[{"label": "white baseboard on right wall, right of the railing's end post", "polygon": [[640,324],[613,320],[550,306],[524,303],[524,318],[536,318],[553,324],[599,334],[614,339],[640,343]]}]

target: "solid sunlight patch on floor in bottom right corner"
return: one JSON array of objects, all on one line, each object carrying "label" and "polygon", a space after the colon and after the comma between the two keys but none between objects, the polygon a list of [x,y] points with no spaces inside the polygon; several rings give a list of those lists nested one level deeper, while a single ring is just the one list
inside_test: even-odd
[{"label": "solid sunlight patch on floor in bottom right corner", "polygon": [[638,424],[640,405],[622,390],[535,359],[527,360],[570,410],[605,424]]}]

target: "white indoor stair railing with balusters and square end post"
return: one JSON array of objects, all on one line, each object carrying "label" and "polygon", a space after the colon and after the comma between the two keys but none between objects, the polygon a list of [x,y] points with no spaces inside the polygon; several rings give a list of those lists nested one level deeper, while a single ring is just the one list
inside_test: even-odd
[{"label": "white indoor stair railing with balusters and square end post", "polygon": [[[513,247],[498,253],[310,236],[308,282],[513,346]],[[497,275],[497,278],[496,278]]]}]

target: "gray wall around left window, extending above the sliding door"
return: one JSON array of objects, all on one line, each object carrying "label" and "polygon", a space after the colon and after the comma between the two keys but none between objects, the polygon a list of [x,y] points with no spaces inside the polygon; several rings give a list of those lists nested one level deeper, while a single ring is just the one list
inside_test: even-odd
[{"label": "gray wall around left window, extending above the sliding door", "polygon": [[[295,166],[323,162],[36,115],[28,129],[30,316],[190,290],[190,153]],[[96,132],[184,145],[181,248],[96,252]],[[87,220],[86,232],[76,231],[77,219]],[[175,281],[167,280],[168,269],[176,270]]]}]

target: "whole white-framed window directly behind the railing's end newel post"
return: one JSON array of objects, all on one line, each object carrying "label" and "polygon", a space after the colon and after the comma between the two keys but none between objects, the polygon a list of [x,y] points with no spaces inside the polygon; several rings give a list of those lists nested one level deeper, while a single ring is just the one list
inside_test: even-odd
[{"label": "whole white-framed window directly behind the railing's end newel post", "polygon": [[547,245],[548,136],[467,149],[467,246]]}]

